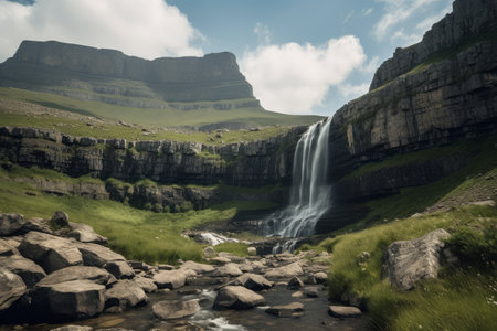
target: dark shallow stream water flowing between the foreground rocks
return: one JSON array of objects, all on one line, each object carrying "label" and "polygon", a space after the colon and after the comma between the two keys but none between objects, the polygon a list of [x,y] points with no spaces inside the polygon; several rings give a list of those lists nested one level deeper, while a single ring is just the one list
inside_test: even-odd
[{"label": "dark shallow stream water flowing between the foreground rocks", "polygon": [[[183,287],[180,290],[195,289],[198,287]],[[266,299],[267,306],[287,305],[290,302],[303,302],[304,314],[300,318],[281,318],[265,312],[264,308],[254,308],[248,310],[212,310],[212,303],[216,292],[211,289],[203,289],[199,295],[182,296],[178,290],[166,293],[150,293],[150,303],[140,308],[130,309],[121,313],[103,313],[97,318],[87,319],[78,322],[63,324],[33,324],[33,325],[0,325],[0,331],[25,330],[25,331],[49,331],[56,327],[67,324],[91,325],[98,328],[126,328],[136,331],[148,331],[151,328],[172,327],[177,323],[192,322],[202,325],[205,330],[370,330],[367,317],[353,319],[337,319],[328,314],[329,302],[326,291],[320,291],[318,298],[293,298],[295,291],[285,287],[276,286],[273,289],[262,291],[261,295]],[[151,307],[161,300],[187,300],[201,299],[202,310],[188,319],[162,322],[152,314]]]}]

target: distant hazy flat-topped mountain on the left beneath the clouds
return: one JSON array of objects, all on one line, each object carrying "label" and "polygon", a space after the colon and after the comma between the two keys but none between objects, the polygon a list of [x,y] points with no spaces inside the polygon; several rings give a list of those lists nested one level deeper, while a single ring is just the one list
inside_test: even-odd
[{"label": "distant hazy flat-topped mountain on the left beneath the clouds", "polygon": [[[219,102],[210,106],[220,110],[260,108],[235,56],[228,52],[147,61],[114,50],[23,41],[15,55],[0,65],[0,82],[131,107],[160,108],[166,100],[181,110],[203,106],[186,107],[181,102]],[[244,100],[226,102],[232,99]]]}]

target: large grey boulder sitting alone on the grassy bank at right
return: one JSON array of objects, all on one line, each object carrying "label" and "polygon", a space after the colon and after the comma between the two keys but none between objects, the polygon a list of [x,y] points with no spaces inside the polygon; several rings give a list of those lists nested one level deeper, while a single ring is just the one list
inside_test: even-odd
[{"label": "large grey boulder sitting alone on the grassy bank at right", "polygon": [[401,290],[410,290],[423,279],[436,278],[444,239],[451,235],[442,228],[413,241],[391,244],[383,255],[383,277]]}]

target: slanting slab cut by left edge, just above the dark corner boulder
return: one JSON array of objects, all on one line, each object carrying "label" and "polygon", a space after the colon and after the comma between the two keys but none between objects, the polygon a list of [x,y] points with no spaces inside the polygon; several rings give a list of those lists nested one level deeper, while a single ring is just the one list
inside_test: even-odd
[{"label": "slanting slab cut by left edge, just above the dark corner boulder", "polygon": [[0,256],[0,267],[20,276],[28,288],[33,287],[46,276],[42,267],[21,255]]}]

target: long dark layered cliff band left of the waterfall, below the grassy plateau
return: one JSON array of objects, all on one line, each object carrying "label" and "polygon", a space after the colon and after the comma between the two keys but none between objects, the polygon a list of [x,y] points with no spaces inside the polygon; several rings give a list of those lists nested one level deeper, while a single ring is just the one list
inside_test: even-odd
[{"label": "long dark layered cliff band left of the waterfall, below the grassy plateau", "polygon": [[[49,168],[72,177],[89,174],[106,180],[136,182],[145,178],[163,184],[226,184],[258,186],[288,183],[292,175],[293,149],[305,127],[267,140],[209,146],[200,142],[127,141],[72,137],[35,128],[0,128],[0,157],[24,167]],[[209,158],[204,154],[212,154]],[[219,156],[219,158],[218,158]],[[44,183],[34,183],[43,189]],[[49,188],[45,188],[50,191]],[[53,193],[57,184],[53,183]],[[212,192],[192,188],[173,189],[107,182],[106,188],[62,186],[64,192],[82,192],[91,196],[129,200],[139,205],[149,202],[171,206],[184,200],[202,207]],[[104,192],[107,191],[106,195]],[[66,193],[67,194],[67,193]],[[219,195],[219,199],[223,199]],[[241,200],[244,200],[241,197]]]}]

